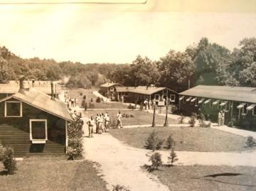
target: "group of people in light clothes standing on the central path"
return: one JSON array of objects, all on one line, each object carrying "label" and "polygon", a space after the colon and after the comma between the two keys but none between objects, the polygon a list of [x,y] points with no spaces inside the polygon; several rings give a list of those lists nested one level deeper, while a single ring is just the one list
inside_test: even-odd
[{"label": "group of people in light clothes standing on the central path", "polygon": [[[93,116],[87,121],[89,137],[93,136],[94,126],[96,125],[96,133],[102,134],[102,132],[108,132],[110,129],[110,115],[108,112],[105,114],[96,114],[95,119]],[[122,114],[119,111],[117,114],[117,128],[122,128]]]}]

